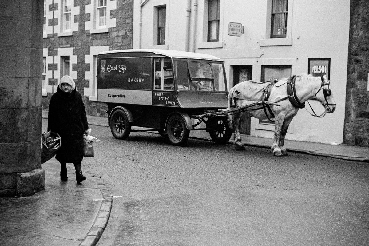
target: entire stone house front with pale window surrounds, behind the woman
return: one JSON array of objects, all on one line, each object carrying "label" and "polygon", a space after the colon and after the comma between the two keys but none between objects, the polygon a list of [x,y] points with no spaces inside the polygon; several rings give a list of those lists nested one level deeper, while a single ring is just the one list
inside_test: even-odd
[{"label": "entire stone house front with pale window surrounds, behind the woman", "polygon": [[59,79],[70,75],[87,114],[105,116],[106,105],[97,103],[96,56],[131,49],[132,21],[133,0],[44,0],[42,108]]}]

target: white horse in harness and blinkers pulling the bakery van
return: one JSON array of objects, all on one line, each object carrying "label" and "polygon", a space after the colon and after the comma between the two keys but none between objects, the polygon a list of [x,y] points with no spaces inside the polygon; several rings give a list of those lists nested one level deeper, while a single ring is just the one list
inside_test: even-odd
[{"label": "white horse in harness and blinkers pulling the bakery van", "polygon": [[[255,95],[255,91],[261,87],[260,84],[262,84],[263,93]],[[284,86],[285,84],[286,86]],[[287,155],[287,150],[283,146],[287,128],[299,109],[305,106],[307,100],[313,98],[318,100],[325,108],[324,115],[327,112],[334,112],[337,104],[329,85],[330,81],[325,75],[314,77],[304,74],[274,80],[267,83],[267,86],[265,83],[244,81],[232,87],[228,94],[227,110],[237,107],[245,108],[245,111],[235,110],[235,113],[228,114],[229,126],[234,129],[235,149],[245,149],[239,133],[239,120],[245,113],[248,117],[253,116],[258,119],[275,121],[274,141],[271,150],[275,156]],[[315,114],[313,116],[322,117],[322,115]]]}]

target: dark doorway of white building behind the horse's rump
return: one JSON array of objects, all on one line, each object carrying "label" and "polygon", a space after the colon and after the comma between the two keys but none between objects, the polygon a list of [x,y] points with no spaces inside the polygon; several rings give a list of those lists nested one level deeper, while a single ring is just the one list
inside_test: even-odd
[{"label": "dark doorway of white building behind the horse's rump", "polygon": [[[233,86],[246,80],[252,80],[252,65],[234,65],[233,67]],[[250,135],[251,118],[242,115],[239,122],[241,134]]]}]

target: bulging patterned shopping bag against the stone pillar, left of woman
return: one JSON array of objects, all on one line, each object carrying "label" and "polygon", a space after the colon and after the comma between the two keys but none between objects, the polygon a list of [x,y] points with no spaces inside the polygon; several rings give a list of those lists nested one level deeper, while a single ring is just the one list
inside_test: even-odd
[{"label": "bulging patterned shopping bag against the stone pillar, left of woman", "polygon": [[41,164],[47,162],[56,155],[62,146],[62,139],[55,132],[43,132],[41,134]]}]

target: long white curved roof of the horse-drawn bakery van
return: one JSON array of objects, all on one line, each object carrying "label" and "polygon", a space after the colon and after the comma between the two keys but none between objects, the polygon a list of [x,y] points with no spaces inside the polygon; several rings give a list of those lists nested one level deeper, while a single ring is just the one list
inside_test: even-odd
[{"label": "long white curved roof of the horse-drawn bakery van", "polygon": [[116,51],[103,51],[99,52],[101,54],[110,54],[110,53],[124,53],[124,52],[146,52],[146,53],[154,53],[158,55],[169,56],[171,58],[190,58],[190,59],[205,59],[205,60],[219,60],[222,59],[208,55],[203,53],[194,53],[194,52],[186,52],[186,51],[175,51],[170,49],[120,49]]}]

